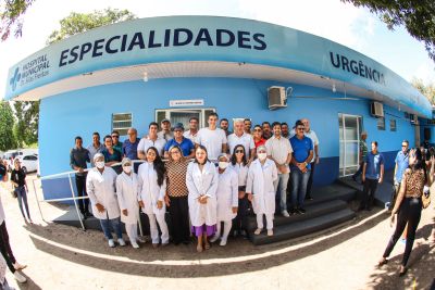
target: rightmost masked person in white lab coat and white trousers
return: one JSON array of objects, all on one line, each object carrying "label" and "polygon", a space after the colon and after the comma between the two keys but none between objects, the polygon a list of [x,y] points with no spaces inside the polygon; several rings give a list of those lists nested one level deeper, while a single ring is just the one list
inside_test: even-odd
[{"label": "rightmost masked person in white lab coat and white trousers", "polygon": [[273,214],[275,213],[275,188],[273,181],[277,176],[275,163],[268,159],[264,146],[257,148],[258,159],[251,163],[246,184],[246,193],[252,202],[253,212],[257,214],[257,229],[254,235],[260,235],[263,229],[263,215],[265,215],[268,236],[273,236]]}]

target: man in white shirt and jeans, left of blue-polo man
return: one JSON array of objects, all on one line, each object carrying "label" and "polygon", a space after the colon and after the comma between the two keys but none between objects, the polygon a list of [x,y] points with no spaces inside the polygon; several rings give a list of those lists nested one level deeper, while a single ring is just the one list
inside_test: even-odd
[{"label": "man in white shirt and jeans, left of blue-polo man", "polygon": [[281,213],[288,217],[287,212],[287,185],[290,169],[288,164],[291,162],[293,148],[287,138],[281,136],[281,124],[272,124],[273,136],[265,142],[268,157],[273,160],[278,169],[278,178],[274,181],[275,191],[279,192]]}]

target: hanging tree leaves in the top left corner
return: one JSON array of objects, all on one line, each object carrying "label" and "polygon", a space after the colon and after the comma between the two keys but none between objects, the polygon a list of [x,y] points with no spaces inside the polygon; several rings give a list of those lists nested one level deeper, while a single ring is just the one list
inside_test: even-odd
[{"label": "hanging tree leaves in the top left corner", "polygon": [[23,14],[35,0],[3,0],[0,3],[0,35],[4,41],[13,30],[15,37],[23,34]]}]

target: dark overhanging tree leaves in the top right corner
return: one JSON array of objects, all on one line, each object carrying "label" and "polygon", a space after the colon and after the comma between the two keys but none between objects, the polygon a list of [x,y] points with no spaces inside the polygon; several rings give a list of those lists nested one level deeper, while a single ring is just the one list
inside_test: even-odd
[{"label": "dark overhanging tree leaves in the top right corner", "polygon": [[377,14],[391,30],[403,25],[408,33],[424,43],[435,62],[435,1],[434,0],[341,0],[364,7]]}]

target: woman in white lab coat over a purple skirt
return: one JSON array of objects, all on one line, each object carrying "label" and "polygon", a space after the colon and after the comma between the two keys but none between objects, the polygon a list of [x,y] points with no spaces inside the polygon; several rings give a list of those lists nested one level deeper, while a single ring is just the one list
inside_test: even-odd
[{"label": "woman in white lab coat over a purple skirt", "polygon": [[207,239],[216,231],[217,171],[201,144],[195,150],[195,161],[187,167],[186,185],[192,231],[198,237],[197,251],[202,252],[210,249]]}]

